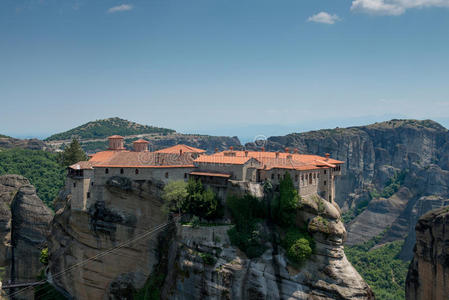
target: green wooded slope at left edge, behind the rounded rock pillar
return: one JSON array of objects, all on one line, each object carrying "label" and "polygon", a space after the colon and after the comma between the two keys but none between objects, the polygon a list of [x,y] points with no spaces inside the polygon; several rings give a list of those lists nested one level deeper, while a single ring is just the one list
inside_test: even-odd
[{"label": "green wooded slope at left edge, behind the rounded rock pillar", "polygon": [[0,175],[22,175],[36,187],[37,195],[51,207],[53,199],[64,185],[65,170],[58,155],[42,150],[0,150]]}]

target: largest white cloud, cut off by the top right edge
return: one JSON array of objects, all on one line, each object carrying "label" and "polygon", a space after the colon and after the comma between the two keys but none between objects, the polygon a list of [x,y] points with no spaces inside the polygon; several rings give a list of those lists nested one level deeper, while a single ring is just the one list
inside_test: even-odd
[{"label": "largest white cloud, cut off by the top right edge", "polygon": [[352,11],[374,15],[402,15],[407,9],[449,7],[449,0],[353,0]]}]

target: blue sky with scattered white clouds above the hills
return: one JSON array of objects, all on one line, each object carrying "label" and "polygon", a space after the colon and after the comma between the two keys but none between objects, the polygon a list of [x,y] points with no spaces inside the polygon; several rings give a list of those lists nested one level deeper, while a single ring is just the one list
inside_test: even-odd
[{"label": "blue sky with scattered white clouds above the hills", "polygon": [[0,133],[449,127],[449,0],[4,0]]}]

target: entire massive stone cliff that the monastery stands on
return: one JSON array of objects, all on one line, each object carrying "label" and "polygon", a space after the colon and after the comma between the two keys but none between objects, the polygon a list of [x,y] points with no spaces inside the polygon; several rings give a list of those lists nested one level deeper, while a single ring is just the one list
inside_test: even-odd
[{"label": "entire massive stone cliff that the monastery stands on", "polygon": [[[49,242],[51,276],[166,221],[160,183],[113,181],[105,187],[104,202],[94,202],[86,212],[71,211],[70,195],[61,194],[65,199],[58,203],[62,208]],[[159,270],[167,274],[158,286],[165,299],[373,299],[345,257],[339,208],[323,203],[305,201],[298,213],[298,222],[310,223],[316,241],[315,254],[301,268],[288,263],[277,243],[268,243],[262,257],[248,259],[230,245],[229,226],[177,225],[53,276],[53,282],[76,299],[132,299]],[[262,230],[272,233],[266,224]]]}]

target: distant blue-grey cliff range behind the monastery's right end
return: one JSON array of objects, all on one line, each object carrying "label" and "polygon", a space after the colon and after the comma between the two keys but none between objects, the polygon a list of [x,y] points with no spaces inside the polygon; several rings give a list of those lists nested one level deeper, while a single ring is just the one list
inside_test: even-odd
[{"label": "distant blue-grey cliff range behind the monastery's right end", "polygon": [[[247,145],[254,147],[254,145]],[[299,148],[302,153],[330,153],[342,160],[336,178],[336,201],[343,211],[369,201],[369,191],[382,191],[389,178],[407,170],[396,195],[372,201],[348,227],[348,244],[371,239],[391,228],[381,243],[414,236],[413,213],[432,197],[449,198],[449,131],[430,120],[392,120],[368,126],[318,130],[271,137],[266,148]],[[430,197],[430,198],[429,198]],[[440,202],[444,204],[444,202]],[[410,256],[411,245],[404,252]],[[411,257],[408,257],[409,259]]]}]

